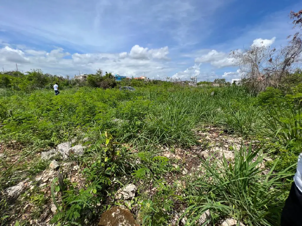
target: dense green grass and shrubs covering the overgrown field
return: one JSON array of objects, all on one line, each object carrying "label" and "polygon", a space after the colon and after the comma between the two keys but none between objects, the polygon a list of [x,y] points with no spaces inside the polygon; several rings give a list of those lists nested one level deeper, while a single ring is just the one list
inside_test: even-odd
[{"label": "dense green grass and shrubs covering the overgrown field", "polygon": [[[10,155],[18,150],[14,152],[18,161],[0,159],[0,224],[16,220],[30,224],[18,218],[22,212],[11,215],[12,202],[27,201],[36,206],[32,219],[40,219],[43,206],[55,202],[53,222],[91,225],[105,209],[121,204],[114,201],[114,193],[129,182],[140,185],[138,196],[127,205],[143,225],[167,225],[180,210],[185,210],[181,218],[195,225],[207,209],[212,224],[226,217],[246,225],[278,224],[302,145],[300,71],[288,75],[286,86],[268,87],[258,96],[235,85],[190,87],[130,80],[117,86],[132,85],[137,90],[124,92],[94,88],[97,82],[89,79],[83,83],[41,71],[16,73],[0,75],[5,87],[0,89],[2,152]],[[58,96],[51,89],[56,81],[61,88]],[[162,147],[183,152],[192,152],[192,146],[206,149],[209,144],[198,140],[195,131],[207,127],[242,137],[250,145],[234,150],[232,161],[200,157],[202,168],[185,176],[184,186],[168,183],[167,177],[182,172],[173,166],[174,160],[159,154]],[[75,137],[87,138],[84,155],[68,160],[79,164],[85,178],[82,187],[65,178],[63,189],[55,178],[52,196],[38,186],[17,201],[5,196],[9,186],[34,179],[48,168],[49,162],[37,153]],[[271,161],[265,163],[269,171],[262,174],[265,156]],[[182,167],[184,162],[177,164]]]}]

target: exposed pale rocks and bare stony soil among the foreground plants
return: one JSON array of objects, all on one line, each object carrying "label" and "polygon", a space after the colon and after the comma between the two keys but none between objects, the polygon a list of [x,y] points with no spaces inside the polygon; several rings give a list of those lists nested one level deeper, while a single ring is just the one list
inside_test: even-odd
[{"label": "exposed pale rocks and bare stony soil among the foreground plants", "polygon": [[[187,149],[177,147],[159,147],[159,155],[169,158],[173,162],[173,166],[178,169],[178,174],[167,174],[165,179],[169,184],[179,184],[183,186],[185,177],[190,176],[202,168],[200,158],[210,162],[216,157],[222,159],[223,155],[229,161],[234,159],[234,150],[239,149],[241,145],[249,146],[249,140],[243,140],[241,137],[237,137],[234,134],[228,134],[226,131],[218,128],[205,128],[202,130],[194,131],[199,137],[199,145],[192,146]],[[85,142],[82,141],[82,143]],[[1,170],[5,170],[5,161],[14,163],[20,158],[20,150],[22,146],[10,146],[2,144],[0,146],[0,159],[2,163],[0,165]],[[9,152],[10,148],[13,150]],[[82,155],[84,153],[85,146],[79,142],[72,141],[70,143],[59,144],[56,149],[42,151],[37,153],[36,158],[42,160],[52,159],[56,155],[61,156],[61,161],[53,160],[45,170],[38,173],[35,178],[24,178],[17,185],[8,187],[5,191],[2,191],[2,196],[8,197],[11,203],[12,225],[14,225],[13,219],[24,220],[27,219],[31,225],[50,225],[50,219],[56,213],[56,206],[54,205],[51,198],[51,185],[55,177],[58,176],[58,169],[60,168],[64,175],[66,175],[71,182],[77,182],[77,186],[84,187],[85,178],[81,174],[81,166],[76,161],[70,161],[69,156]],[[66,161],[68,160],[68,161]],[[269,159],[267,159],[269,160]],[[175,183],[176,182],[176,183]],[[121,187],[115,195],[115,199],[119,200],[133,200],[137,194],[137,187],[139,184],[128,184],[125,187]],[[155,188],[156,189],[156,188]],[[181,192],[181,189],[179,190]],[[28,197],[36,197],[36,200],[28,199]],[[43,197],[41,197],[41,195]],[[59,192],[55,192],[57,202],[60,201]],[[1,197],[0,197],[1,198]],[[37,202],[43,202],[42,209],[37,210]],[[126,203],[127,204],[127,203]],[[37,215],[40,215],[38,219],[31,219],[33,212],[36,211]],[[178,222],[178,218],[181,215],[180,212],[175,212],[173,220],[170,225],[184,225],[185,218]],[[135,220],[137,218],[136,211],[130,212],[129,209],[120,206],[112,207],[107,212],[104,212],[100,216],[99,225],[139,225]],[[115,216],[115,217],[114,217]],[[200,219],[199,224],[209,218],[209,213],[206,212]],[[115,222],[115,223],[112,223]],[[119,222],[120,224],[118,224]],[[121,223],[124,222],[124,223]],[[220,225],[235,225],[234,219],[224,219]],[[243,224],[240,224],[243,225]]]}]

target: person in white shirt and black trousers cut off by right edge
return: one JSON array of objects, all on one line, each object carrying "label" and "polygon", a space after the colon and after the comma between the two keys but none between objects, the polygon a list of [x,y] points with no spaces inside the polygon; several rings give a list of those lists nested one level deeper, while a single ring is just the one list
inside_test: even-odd
[{"label": "person in white shirt and black trousers cut off by right edge", "polygon": [[302,153],[298,158],[297,172],[294,176],[294,182],[291,185],[291,191],[285,201],[281,214],[281,226],[302,225],[300,215],[302,213]]}]

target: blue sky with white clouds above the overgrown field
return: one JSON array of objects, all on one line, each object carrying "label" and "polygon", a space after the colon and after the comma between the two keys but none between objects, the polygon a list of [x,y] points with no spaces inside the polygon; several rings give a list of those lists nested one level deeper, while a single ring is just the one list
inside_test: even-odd
[{"label": "blue sky with white clouds above the overgrown field", "polygon": [[232,49],[293,34],[289,0],[48,0],[0,7],[0,66],[6,71],[93,73],[198,80],[239,77]]}]

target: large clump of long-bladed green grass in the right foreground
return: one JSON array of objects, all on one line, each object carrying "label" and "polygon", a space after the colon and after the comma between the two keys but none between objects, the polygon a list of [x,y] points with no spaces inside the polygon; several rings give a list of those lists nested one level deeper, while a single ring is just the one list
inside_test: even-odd
[{"label": "large clump of long-bladed green grass in the right foreground", "polygon": [[212,212],[213,223],[232,216],[246,225],[279,225],[288,193],[283,181],[293,174],[287,169],[273,173],[274,165],[263,175],[260,166],[264,155],[259,154],[259,149],[253,151],[250,146],[235,151],[233,163],[223,158],[209,165],[201,159],[205,176],[189,180],[185,190],[191,202],[186,210],[190,225],[207,209]]}]

